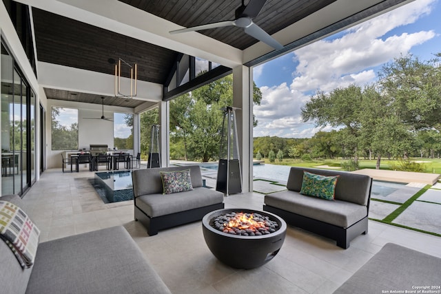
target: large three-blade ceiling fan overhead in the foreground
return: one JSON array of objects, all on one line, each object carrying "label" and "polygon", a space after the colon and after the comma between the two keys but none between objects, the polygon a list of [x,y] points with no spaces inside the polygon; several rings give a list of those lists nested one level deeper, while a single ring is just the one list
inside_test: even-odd
[{"label": "large three-blade ceiling fan overhead in the foreground", "polygon": [[242,6],[236,9],[236,19],[234,21],[220,21],[218,23],[208,23],[206,25],[197,25],[196,27],[186,28],[181,30],[172,30],[170,34],[178,34],[181,32],[193,32],[196,30],[208,30],[213,28],[222,28],[234,25],[238,28],[243,28],[246,34],[252,36],[254,39],[258,39],[263,43],[280,50],[283,45],[278,43],[272,36],[260,28],[256,23],[252,21],[254,17],[257,17],[262,10],[267,0],[249,0],[247,6],[245,6],[245,0],[242,0]]}]

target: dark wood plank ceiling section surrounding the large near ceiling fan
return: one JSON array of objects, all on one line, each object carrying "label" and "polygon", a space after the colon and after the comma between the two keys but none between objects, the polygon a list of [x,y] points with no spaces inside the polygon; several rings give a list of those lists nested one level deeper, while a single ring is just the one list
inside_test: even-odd
[{"label": "dark wood plank ceiling section surrounding the large near ceiling fan", "polygon": [[[218,21],[235,19],[235,11],[240,7],[240,0],[119,0],[130,6],[172,21],[185,28]],[[263,6],[254,23],[263,28],[268,34],[274,34],[287,26],[296,23],[336,0],[268,0]],[[245,1],[245,5],[249,1]],[[201,30],[201,34],[212,37],[235,48],[244,50],[257,43],[257,40],[248,36],[242,29],[234,26]]]}]

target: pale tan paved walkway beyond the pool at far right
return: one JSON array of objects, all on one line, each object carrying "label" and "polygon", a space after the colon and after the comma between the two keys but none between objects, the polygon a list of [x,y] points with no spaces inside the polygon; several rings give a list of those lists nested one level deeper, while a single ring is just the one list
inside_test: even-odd
[{"label": "pale tan paved walkway beyond the pool at far right", "polygon": [[359,169],[352,171],[353,174],[367,175],[374,180],[387,182],[422,182],[427,185],[435,185],[440,174],[414,173],[411,171],[387,171],[384,169]]}]

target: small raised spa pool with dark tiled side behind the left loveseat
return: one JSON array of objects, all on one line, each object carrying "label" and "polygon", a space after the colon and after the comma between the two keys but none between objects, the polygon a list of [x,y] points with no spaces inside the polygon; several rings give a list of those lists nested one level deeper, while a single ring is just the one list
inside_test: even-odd
[{"label": "small raised spa pool with dark tiled side behind the left loveseat", "polygon": [[132,171],[95,173],[95,184],[103,189],[108,202],[133,199]]}]

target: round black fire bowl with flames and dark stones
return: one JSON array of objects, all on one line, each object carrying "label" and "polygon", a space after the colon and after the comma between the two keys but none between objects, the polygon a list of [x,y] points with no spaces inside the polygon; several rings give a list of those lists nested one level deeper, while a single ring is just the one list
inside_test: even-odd
[{"label": "round black fire bowl with flames and dark stones", "polygon": [[267,211],[219,209],[203,217],[202,229],[218,260],[236,269],[254,269],[280,251],[287,224]]}]

